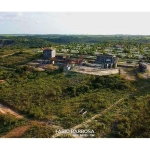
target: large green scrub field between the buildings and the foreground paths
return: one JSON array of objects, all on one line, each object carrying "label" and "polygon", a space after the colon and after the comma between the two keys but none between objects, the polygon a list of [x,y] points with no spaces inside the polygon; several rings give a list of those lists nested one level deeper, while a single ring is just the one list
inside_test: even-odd
[{"label": "large green scrub field between the buildings and the foreground paths", "polygon": [[[9,73],[7,84],[1,86],[1,101],[28,117],[53,119],[64,128],[102,111],[132,89],[131,84],[119,76],[65,75],[57,71],[29,73],[24,68]],[[82,108],[88,111],[85,117],[79,114]]]}]

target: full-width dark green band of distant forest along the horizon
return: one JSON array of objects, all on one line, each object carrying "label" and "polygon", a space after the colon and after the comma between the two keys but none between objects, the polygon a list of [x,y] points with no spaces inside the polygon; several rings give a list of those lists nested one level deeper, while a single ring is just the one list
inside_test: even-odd
[{"label": "full-width dark green band of distant forest along the horizon", "polygon": [[150,36],[141,35],[3,35],[1,47],[39,48],[53,44],[109,43],[109,44],[150,44]]}]

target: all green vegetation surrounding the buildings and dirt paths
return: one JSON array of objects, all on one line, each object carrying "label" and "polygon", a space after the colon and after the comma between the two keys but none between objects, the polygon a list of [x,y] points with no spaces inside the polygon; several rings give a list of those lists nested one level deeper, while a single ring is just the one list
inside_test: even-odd
[{"label": "all green vegetation surrounding the buildings and dirt paths", "polygon": [[[0,103],[11,106],[29,120],[51,121],[68,129],[131,94],[84,128],[93,129],[96,137],[150,137],[150,81],[141,74],[137,74],[137,81],[127,81],[119,75],[64,73],[62,67],[38,72],[27,65],[42,57],[41,47],[49,46],[56,47],[57,52],[67,49],[64,53],[72,54],[71,57],[80,57],[79,54],[90,59],[96,58],[94,52],[108,53],[105,49],[109,49],[123,61],[130,60],[132,50],[137,49],[149,61],[149,52],[144,51],[150,49],[149,36],[1,36],[0,44]],[[118,50],[127,55],[122,56]],[[79,113],[83,108],[86,113]],[[0,115],[0,136],[26,124],[23,119]],[[32,125],[22,137],[49,138],[54,132],[49,125]]]}]

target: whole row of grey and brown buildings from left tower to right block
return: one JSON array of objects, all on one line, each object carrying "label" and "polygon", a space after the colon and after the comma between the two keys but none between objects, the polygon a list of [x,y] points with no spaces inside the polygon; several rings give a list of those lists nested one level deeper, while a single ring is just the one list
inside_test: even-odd
[{"label": "whole row of grey and brown buildings from left tower to right block", "polygon": [[[84,63],[84,56],[80,56],[79,58],[70,58],[70,56],[66,56],[66,55],[56,55],[56,50],[53,48],[43,48],[43,64],[54,64],[54,61],[56,63],[61,63],[64,64],[64,66],[73,66],[73,64],[77,64],[77,65],[87,65],[90,66],[91,63]],[[90,59],[91,60],[91,59]],[[90,61],[89,60],[89,61]],[[94,62],[97,64],[91,64],[93,67],[100,67],[102,69],[111,69],[111,68],[116,68],[117,67],[117,61],[118,58],[114,55],[108,55],[108,54],[99,54],[97,55],[96,60],[94,60]]]}]

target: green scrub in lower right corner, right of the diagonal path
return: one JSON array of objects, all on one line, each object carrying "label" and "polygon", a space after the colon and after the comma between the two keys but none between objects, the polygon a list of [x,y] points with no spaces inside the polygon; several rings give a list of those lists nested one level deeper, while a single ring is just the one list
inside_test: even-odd
[{"label": "green scrub in lower right corner, right of the diagonal path", "polygon": [[95,137],[149,138],[149,88],[149,85],[145,85],[137,89],[129,98],[88,124],[88,128],[95,131]]}]

